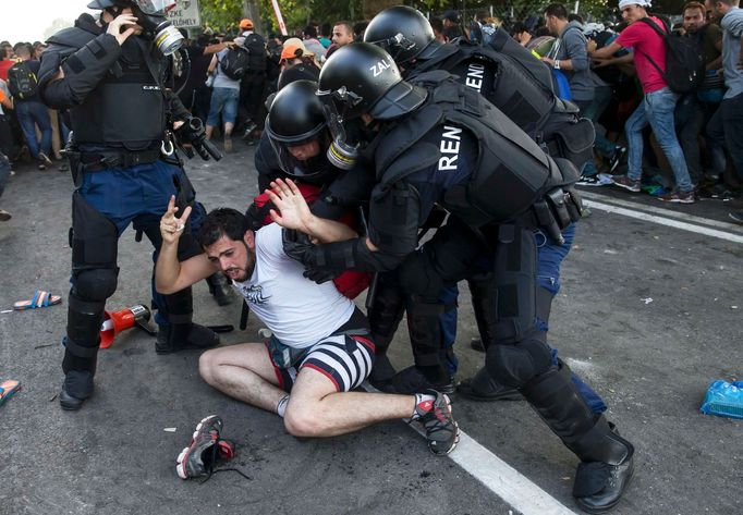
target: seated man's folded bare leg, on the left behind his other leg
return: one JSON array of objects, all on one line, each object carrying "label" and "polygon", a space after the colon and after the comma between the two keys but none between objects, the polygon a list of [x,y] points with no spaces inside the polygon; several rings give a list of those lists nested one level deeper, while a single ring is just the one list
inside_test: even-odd
[{"label": "seated man's folded bare leg, on the left behind his other leg", "polygon": [[273,365],[263,343],[242,343],[214,348],[198,359],[202,378],[239,401],[277,413],[287,392],[281,390]]}]

